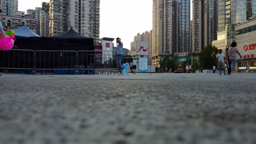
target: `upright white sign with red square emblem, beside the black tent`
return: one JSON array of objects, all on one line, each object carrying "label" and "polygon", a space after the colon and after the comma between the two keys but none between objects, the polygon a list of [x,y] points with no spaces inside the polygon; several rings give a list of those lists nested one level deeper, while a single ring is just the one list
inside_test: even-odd
[{"label": "upright white sign with red square emblem, beside the black tent", "polygon": [[102,40],[102,64],[113,60],[113,41]]}]

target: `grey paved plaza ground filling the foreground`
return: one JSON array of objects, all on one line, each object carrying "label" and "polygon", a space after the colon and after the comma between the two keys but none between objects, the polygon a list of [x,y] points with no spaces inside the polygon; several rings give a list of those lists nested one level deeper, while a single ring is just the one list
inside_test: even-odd
[{"label": "grey paved plaza ground filling the foreground", "polygon": [[0,77],[0,143],[256,143],[256,74]]}]

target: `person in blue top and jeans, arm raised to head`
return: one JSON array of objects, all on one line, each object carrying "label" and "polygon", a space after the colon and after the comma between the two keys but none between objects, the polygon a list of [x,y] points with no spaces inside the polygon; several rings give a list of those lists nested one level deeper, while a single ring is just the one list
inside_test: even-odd
[{"label": "person in blue top and jeans, arm raised to head", "polygon": [[123,74],[123,68],[122,68],[122,65],[121,65],[121,60],[123,58],[123,43],[121,42],[121,39],[120,38],[117,38],[117,53],[116,53],[116,56],[117,56],[117,70],[118,70],[118,73],[117,74]]}]

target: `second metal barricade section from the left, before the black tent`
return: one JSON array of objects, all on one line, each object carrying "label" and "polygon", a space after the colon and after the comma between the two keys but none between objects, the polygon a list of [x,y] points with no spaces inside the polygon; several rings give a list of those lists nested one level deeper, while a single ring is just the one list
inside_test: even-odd
[{"label": "second metal barricade section from the left, before the black tent", "polygon": [[41,73],[76,74],[77,51],[37,50],[34,69]]}]

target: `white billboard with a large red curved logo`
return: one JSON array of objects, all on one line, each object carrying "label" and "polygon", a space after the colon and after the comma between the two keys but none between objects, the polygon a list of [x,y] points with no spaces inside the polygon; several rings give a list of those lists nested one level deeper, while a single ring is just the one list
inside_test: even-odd
[{"label": "white billboard with a large red curved logo", "polygon": [[149,44],[148,41],[133,41],[131,43],[131,55],[143,55],[148,56],[149,55]]}]

